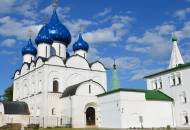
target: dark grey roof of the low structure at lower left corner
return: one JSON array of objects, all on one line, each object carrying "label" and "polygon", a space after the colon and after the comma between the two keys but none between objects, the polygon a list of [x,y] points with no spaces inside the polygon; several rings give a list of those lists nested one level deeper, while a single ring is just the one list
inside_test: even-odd
[{"label": "dark grey roof of the low structure at lower left corner", "polygon": [[28,104],[18,101],[3,101],[4,114],[29,115]]}]

